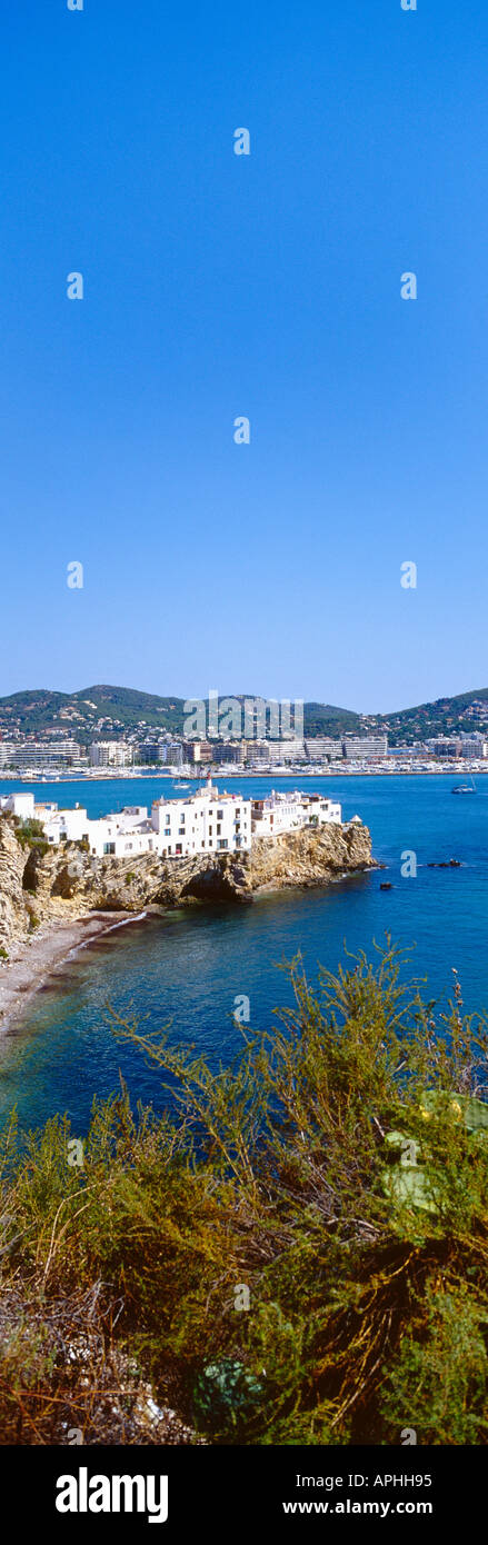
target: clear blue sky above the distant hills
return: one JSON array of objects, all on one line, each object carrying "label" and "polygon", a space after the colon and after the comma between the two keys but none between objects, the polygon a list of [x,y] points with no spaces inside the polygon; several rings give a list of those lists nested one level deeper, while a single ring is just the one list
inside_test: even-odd
[{"label": "clear blue sky above the distant hills", "polygon": [[488,684],[485,0],[2,34],[0,694]]}]

